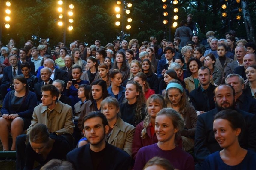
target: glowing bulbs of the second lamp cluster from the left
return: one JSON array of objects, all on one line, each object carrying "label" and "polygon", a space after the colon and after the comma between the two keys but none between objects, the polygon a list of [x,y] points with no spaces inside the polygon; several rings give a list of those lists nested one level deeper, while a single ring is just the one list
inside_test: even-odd
[{"label": "glowing bulbs of the second lamp cluster from the left", "polygon": [[[64,12],[67,12],[67,11],[63,11],[63,1],[62,0],[59,0],[58,1],[58,12],[59,12],[59,22],[58,22],[58,25],[59,26],[62,26],[63,25],[63,19],[65,19],[65,17],[63,15],[65,15]],[[69,26],[68,26],[68,30],[71,31],[73,29],[73,26],[72,26],[72,23],[74,22],[74,19],[72,19],[72,16],[73,16],[73,10],[74,9],[74,5],[73,4],[70,4],[69,5],[69,10],[68,10],[68,15],[69,16]]]}]

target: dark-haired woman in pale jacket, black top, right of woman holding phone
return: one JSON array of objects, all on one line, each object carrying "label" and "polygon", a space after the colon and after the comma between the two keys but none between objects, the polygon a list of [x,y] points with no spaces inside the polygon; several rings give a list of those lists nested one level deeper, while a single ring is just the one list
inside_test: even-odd
[{"label": "dark-haired woman in pale jacket, black top, right of woman holding phone", "polygon": [[88,57],[87,58],[87,67],[89,68],[87,71],[83,72],[81,75],[81,80],[89,81],[90,85],[93,80],[99,79],[99,72],[98,72],[98,62],[95,57]]}]

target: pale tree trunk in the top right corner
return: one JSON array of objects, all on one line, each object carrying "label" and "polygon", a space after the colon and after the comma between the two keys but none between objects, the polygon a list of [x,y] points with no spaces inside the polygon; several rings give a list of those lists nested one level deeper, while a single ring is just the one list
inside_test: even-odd
[{"label": "pale tree trunk in the top right corner", "polygon": [[251,15],[249,11],[249,5],[247,0],[242,0],[241,1],[241,6],[242,6],[242,14],[245,22],[245,29],[246,29],[246,35],[248,40],[250,42],[255,43],[255,34],[254,34],[254,28],[251,22]]}]

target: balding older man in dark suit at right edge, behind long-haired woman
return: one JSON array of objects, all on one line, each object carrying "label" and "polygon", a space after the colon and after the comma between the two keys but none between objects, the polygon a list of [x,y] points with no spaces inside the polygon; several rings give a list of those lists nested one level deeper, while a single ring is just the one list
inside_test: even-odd
[{"label": "balding older man in dark suit at right edge, behind long-haired woman", "polygon": [[234,73],[241,75],[244,80],[247,80],[245,70],[251,65],[256,65],[256,54],[249,53],[244,56],[243,66],[236,67]]}]

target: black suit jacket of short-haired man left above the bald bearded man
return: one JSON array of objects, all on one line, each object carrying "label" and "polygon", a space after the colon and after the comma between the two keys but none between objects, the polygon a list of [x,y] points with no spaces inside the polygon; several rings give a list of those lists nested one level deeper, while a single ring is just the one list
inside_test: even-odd
[{"label": "black suit jacket of short-haired man left above the bald bearded man", "polygon": [[215,102],[213,99],[213,91],[216,88],[216,86],[212,85],[210,83],[209,87],[208,87],[208,100],[209,100],[209,104],[210,104],[210,109],[208,109],[207,107],[207,101],[204,100],[204,96],[203,96],[203,92],[201,89],[201,86],[199,86],[197,89],[194,89],[190,92],[189,94],[189,98],[190,98],[190,103],[192,104],[192,106],[194,106],[195,110],[197,111],[209,111],[215,108]]}]

